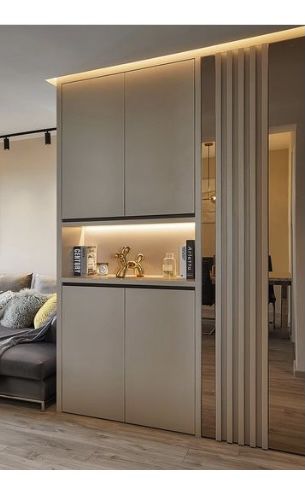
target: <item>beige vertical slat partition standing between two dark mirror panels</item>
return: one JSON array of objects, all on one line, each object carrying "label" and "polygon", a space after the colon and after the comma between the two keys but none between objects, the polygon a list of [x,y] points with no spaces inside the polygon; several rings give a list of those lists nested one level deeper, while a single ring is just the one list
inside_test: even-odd
[{"label": "beige vertical slat partition standing between two dark mirror panels", "polygon": [[216,439],[268,447],[268,46],[216,56]]}]

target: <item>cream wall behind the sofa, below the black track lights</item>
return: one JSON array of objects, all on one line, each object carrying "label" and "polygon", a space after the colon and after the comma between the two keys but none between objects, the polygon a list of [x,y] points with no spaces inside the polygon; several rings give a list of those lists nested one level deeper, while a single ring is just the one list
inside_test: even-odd
[{"label": "cream wall behind the sofa, below the black track lights", "polygon": [[0,149],[0,272],[56,274],[56,140]]}]

